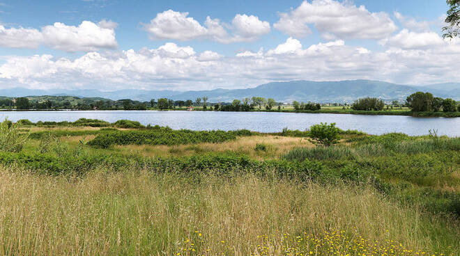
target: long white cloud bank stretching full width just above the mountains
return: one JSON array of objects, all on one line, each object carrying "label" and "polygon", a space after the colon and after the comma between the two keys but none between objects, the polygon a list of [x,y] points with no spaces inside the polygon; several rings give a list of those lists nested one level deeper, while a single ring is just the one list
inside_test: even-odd
[{"label": "long white cloud bank stretching full width just above the mountains", "polygon": [[273,49],[226,57],[167,43],[139,51],[93,51],[79,58],[1,58],[5,62],[0,65],[3,87],[201,90],[292,79],[375,79],[408,84],[460,81],[460,40],[426,49],[369,51],[343,40],[302,46],[289,38]]}]

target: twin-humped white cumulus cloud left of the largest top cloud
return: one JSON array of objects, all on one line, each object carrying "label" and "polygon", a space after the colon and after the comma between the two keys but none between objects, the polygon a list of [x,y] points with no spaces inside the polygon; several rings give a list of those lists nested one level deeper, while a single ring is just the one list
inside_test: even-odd
[{"label": "twin-humped white cumulus cloud left of the largest top cloud", "polygon": [[[165,10],[144,29],[152,40],[195,40],[210,39],[222,43],[249,42],[270,32],[270,24],[253,15],[237,14],[231,24],[223,24],[220,19],[206,17],[204,26],[188,13]],[[229,29],[226,29],[229,28]]]}]

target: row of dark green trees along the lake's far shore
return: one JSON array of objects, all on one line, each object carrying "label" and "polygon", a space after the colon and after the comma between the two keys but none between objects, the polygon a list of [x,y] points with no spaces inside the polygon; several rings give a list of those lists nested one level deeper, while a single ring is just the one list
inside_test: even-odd
[{"label": "row of dark green trees along the lake's far shore", "polygon": [[[40,97],[38,97],[40,99]],[[58,99],[56,101],[51,99]],[[13,109],[75,109],[75,110],[146,110],[146,109],[176,109],[185,108],[190,106],[199,106],[204,110],[214,111],[254,111],[254,110],[273,110],[276,106],[281,110],[282,103],[276,102],[273,98],[264,97],[245,97],[243,100],[234,99],[233,102],[220,102],[217,104],[209,103],[208,97],[197,97],[194,101],[187,100],[174,100],[167,98],[160,98],[155,101],[151,99],[149,102],[139,102],[132,99],[119,99],[119,100],[103,100],[94,98],[79,97],[52,97],[45,100],[33,99],[29,100],[28,97],[18,97],[16,99],[0,98],[0,107]],[[96,98],[97,99],[97,98]],[[72,101],[72,103],[71,103]],[[76,102],[76,103],[75,103]],[[409,95],[404,104],[399,104],[398,101],[393,101],[391,105],[385,105],[382,99],[376,97],[364,97],[355,100],[351,104],[351,109],[358,111],[382,111],[386,106],[387,109],[391,106],[408,106],[414,112],[455,112],[460,111],[460,102],[454,99],[443,99],[441,97],[434,97],[431,93],[417,92]],[[209,106],[208,106],[209,105]],[[347,105],[347,104],[345,104]],[[314,102],[297,102],[292,103],[295,111],[319,111],[321,104]]]}]

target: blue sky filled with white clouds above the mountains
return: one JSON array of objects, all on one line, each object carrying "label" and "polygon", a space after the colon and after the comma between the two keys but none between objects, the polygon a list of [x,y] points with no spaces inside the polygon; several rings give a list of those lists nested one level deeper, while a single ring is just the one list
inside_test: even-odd
[{"label": "blue sky filled with white clouds above the mountains", "polygon": [[460,82],[443,0],[0,0],[0,89]]}]

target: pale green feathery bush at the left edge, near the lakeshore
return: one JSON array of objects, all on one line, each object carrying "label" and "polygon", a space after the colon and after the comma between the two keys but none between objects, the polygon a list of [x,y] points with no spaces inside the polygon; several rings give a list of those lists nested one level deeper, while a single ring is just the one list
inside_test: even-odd
[{"label": "pale green feathery bush at the left edge, near the lakeshore", "polygon": [[0,123],[0,151],[20,152],[26,143],[28,135],[20,134],[19,125],[10,120]]}]

